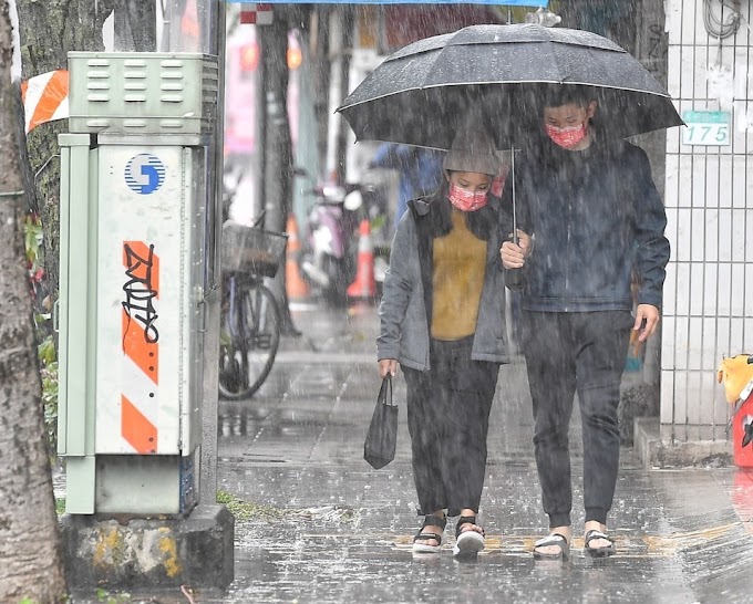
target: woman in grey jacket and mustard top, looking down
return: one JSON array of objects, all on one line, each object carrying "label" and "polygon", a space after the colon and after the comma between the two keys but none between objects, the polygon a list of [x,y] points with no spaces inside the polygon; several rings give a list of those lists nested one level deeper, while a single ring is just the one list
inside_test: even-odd
[{"label": "woman in grey jacket and mustard top, looking down", "polygon": [[409,202],[395,232],[379,309],[379,373],[398,364],[408,386],[413,479],[423,524],[413,551],[440,551],[447,517],[455,553],[484,549],[477,514],[499,364],[508,361],[499,160],[471,122],[456,134],[437,192]]}]

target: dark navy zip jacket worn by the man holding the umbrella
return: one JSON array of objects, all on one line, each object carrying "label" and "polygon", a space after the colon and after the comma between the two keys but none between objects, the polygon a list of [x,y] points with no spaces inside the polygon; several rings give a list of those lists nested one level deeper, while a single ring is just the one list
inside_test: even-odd
[{"label": "dark navy zip jacket worn by the man holding the umbrella", "polygon": [[[534,236],[522,305],[529,311],[661,308],[670,246],[664,206],[643,149],[599,140],[581,152],[548,138],[516,155],[517,227]],[[512,178],[503,192],[501,227],[512,232]]]}]

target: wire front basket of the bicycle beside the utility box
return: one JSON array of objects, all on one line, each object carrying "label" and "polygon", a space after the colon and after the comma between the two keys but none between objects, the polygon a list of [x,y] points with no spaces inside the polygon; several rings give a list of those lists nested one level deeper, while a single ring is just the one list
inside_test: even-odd
[{"label": "wire front basket of the bicycle beside the utility box", "polygon": [[227,221],[223,225],[223,270],[275,277],[288,236]]}]

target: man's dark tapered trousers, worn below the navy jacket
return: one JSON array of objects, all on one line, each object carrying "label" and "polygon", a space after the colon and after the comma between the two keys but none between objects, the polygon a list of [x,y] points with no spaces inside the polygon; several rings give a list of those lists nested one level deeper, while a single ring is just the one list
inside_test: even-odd
[{"label": "man's dark tapered trousers, worn below the navy jacket", "polygon": [[536,467],[551,528],[570,524],[568,427],[576,392],[582,424],[586,521],[607,522],[617,483],[617,406],[632,324],[627,311],[523,313]]}]

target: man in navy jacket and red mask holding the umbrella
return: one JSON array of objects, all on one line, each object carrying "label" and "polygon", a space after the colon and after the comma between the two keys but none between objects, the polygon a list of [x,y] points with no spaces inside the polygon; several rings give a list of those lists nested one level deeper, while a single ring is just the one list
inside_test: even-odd
[{"label": "man in navy jacket and red mask holding the umbrella", "polygon": [[[537,559],[565,559],[571,540],[568,425],[578,394],[584,441],[585,552],[615,553],[607,532],[619,461],[617,406],[630,331],[657,330],[670,246],[646,153],[609,137],[587,86],[546,91],[545,137],[517,163],[503,199],[532,247],[503,243],[522,277],[523,348],[534,407],[534,446],[550,533]],[[504,206],[504,204],[503,204]],[[503,228],[513,230],[512,216]],[[631,277],[640,283],[635,316]]]}]

